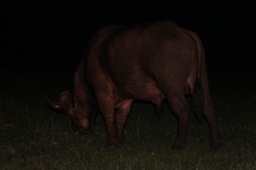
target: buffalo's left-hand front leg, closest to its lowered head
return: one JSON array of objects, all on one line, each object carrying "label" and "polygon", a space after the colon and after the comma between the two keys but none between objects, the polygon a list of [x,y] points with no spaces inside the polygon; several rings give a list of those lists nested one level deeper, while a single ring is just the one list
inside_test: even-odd
[{"label": "buffalo's left-hand front leg, closest to its lowered head", "polygon": [[[97,94],[96,94],[97,97]],[[106,128],[106,137],[107,137],[107,148],[116,149],[116,143],[119,143],[116,140],[114,121],[115,121],[115,100],[108,95],[103,95],[100,93],[100,97],[97,97],[97,102],[99,105],[100,112],[104,118],[104,124]]]}]

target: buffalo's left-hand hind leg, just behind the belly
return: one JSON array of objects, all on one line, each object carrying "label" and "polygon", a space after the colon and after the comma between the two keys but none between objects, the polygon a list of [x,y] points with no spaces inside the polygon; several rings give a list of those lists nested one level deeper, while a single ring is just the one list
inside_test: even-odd
[{"label": "buffalo's left-hand hind leg, just behind the belly", "polygon": [[180,150],[187,146],[186,144],[186,136],[188,129],[188,122],[190,116],[190,107],[185,96],[180,97],[167,97],[166,99],[174,112],[177,122],[178,122],[178,130],[176,141],[172,145],[172,149]]}]

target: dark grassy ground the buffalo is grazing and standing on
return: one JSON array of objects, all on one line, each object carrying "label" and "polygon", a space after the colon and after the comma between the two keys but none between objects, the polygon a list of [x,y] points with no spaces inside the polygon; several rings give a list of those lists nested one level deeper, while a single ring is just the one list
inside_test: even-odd
[{"label": "dark grassy ground the buffalo is grazing and standing on", "polygon": [[[43,67],[42,67],[43,68]],[[91,135],[74,135],[68,116],[53,113],[53,100],[71,87],[74,70],[5,67],[0,75],[0,169],[255,169],[256,81],[252,70],[209,69],[223,145],[210,149],[204,119],[191,115],[187,147],[172,151],[177,122],[166,103],[161,118],[147,102],[135,102],[125,145],[108,151],[100,115]],[[191,97],[188,97],[191,104]]]}]

